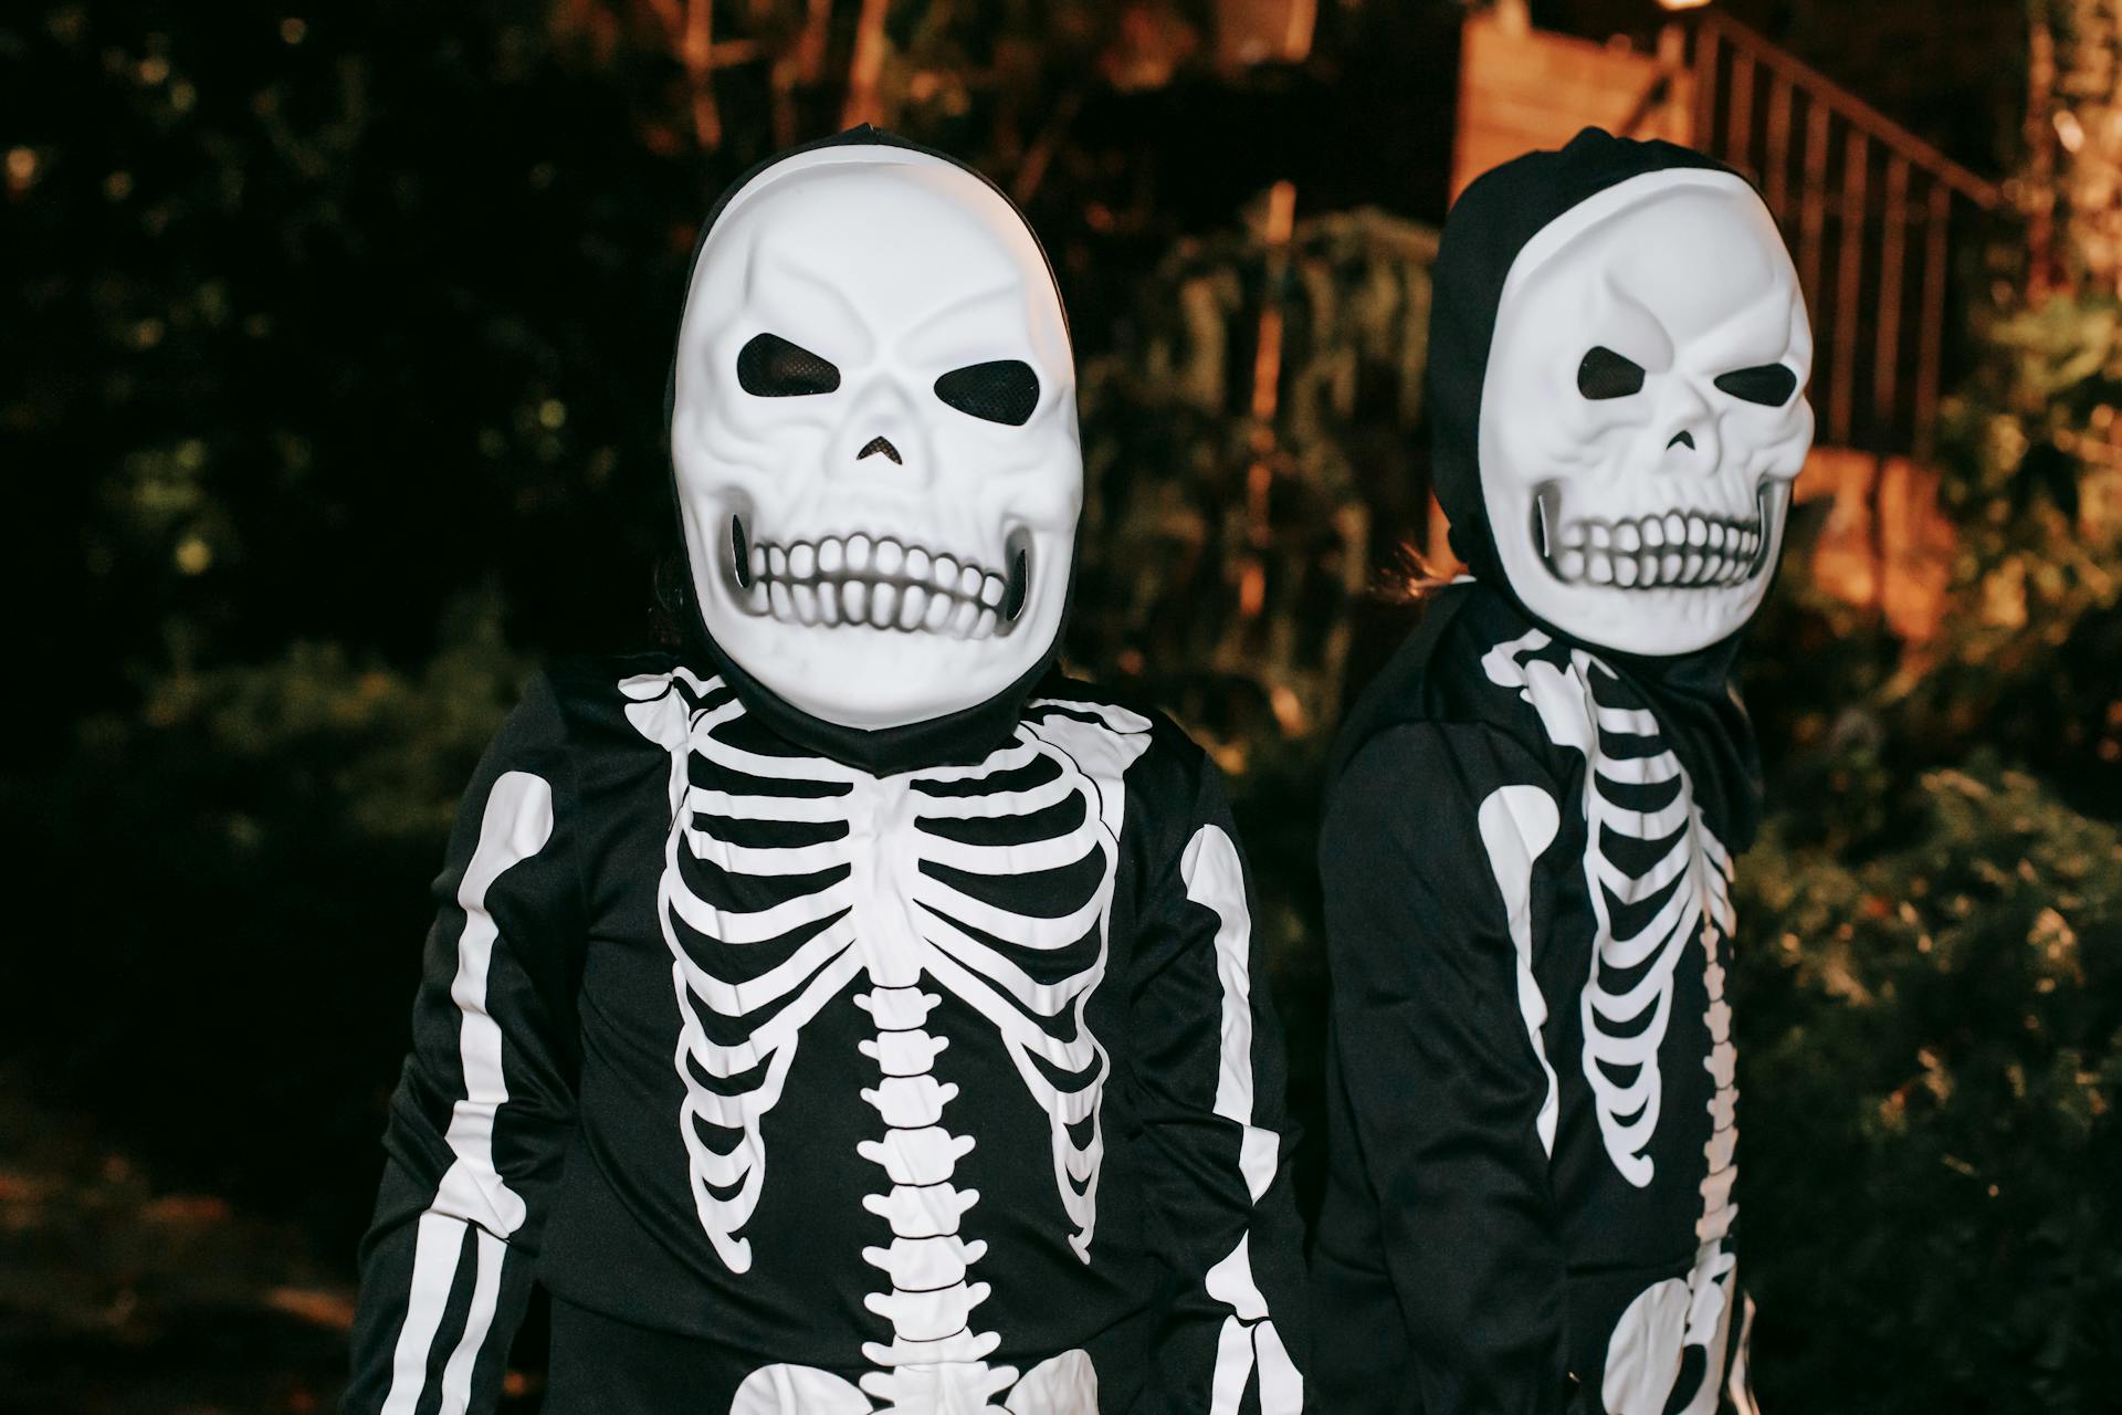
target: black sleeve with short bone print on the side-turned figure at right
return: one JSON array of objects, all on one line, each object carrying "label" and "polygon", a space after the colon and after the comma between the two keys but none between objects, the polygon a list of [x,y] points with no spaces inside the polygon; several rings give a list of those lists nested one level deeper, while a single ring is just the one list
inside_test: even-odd
[{"label": "black sleeve with short bone print on the side-turned figure at right", "polygon": [[1547,1171],[1558,1095],[1532,974],[1558,823],[1545,768],[1481,726],[1390,728],[1328,800],[1326,1409],[1572,1409]]}]

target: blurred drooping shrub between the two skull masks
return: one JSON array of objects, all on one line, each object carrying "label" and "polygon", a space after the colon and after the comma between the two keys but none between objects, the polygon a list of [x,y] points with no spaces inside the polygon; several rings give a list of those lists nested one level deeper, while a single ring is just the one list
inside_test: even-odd
[{"label": "blurred drooping shrub between the two skull masks", "polygon": [[1277,740],[1324,749],[1350,602],[1426,494],[1437,233],[1375,210],[1286,242],[1263,225],[1182,240],[1148,272],[1080,397],[1072,658],[1142,679],[1237,772]]}]

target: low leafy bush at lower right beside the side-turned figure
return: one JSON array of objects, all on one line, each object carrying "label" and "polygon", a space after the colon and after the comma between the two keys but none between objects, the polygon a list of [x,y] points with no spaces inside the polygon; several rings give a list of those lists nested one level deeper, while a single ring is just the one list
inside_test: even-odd
[{"label": "low leafy bush at lower right beside the side-turned figure", "polygon": [[1763,1409],[2118,1409],[2122,836],[1988,762],[1789,806],[1740,876]]}]

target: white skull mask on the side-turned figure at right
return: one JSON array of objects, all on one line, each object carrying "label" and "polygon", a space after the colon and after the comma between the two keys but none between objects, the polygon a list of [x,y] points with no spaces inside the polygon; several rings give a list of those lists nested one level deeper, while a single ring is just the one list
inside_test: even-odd
[{"label": "white skull mask on the side-turned figure at right", "polygon": [[1761,197],[1651,172],[1519,250],[1481,384],[1481,492],[1541,619],[1691,653],[1768,592],[1812,443],[1812,329]]}]

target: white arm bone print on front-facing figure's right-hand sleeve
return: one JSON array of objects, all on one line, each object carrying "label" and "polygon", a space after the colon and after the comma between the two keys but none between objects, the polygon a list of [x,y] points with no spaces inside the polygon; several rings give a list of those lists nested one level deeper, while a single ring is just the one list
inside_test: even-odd
[{"label": "white arm bone print on front-facing figure's right-hand sleeve", "polygon": [[[1275,1180],[1280,1141],[1252,1124],[1252,914],[1246,908],[1246,872],[1231,836],[1203,825],[1180,855],[1186,897],[1216,914],[1216,980],[1222,984],[1222,1046],[1216,1073],[1216,1114],[1239,1126],[1239,1171],[1254,1203]],[[1210,1390],[1212,1415],[1237,1415],[1246,1383],[1260,1373],[1260,1413],[1294,1415],[1303,1409],[1303,1377],[1269,1320],[1267,1298],[1252,1277],[1252,1235],[1207,1271],[1210,1296],[1224,1303],[1222,1337]]]}]

